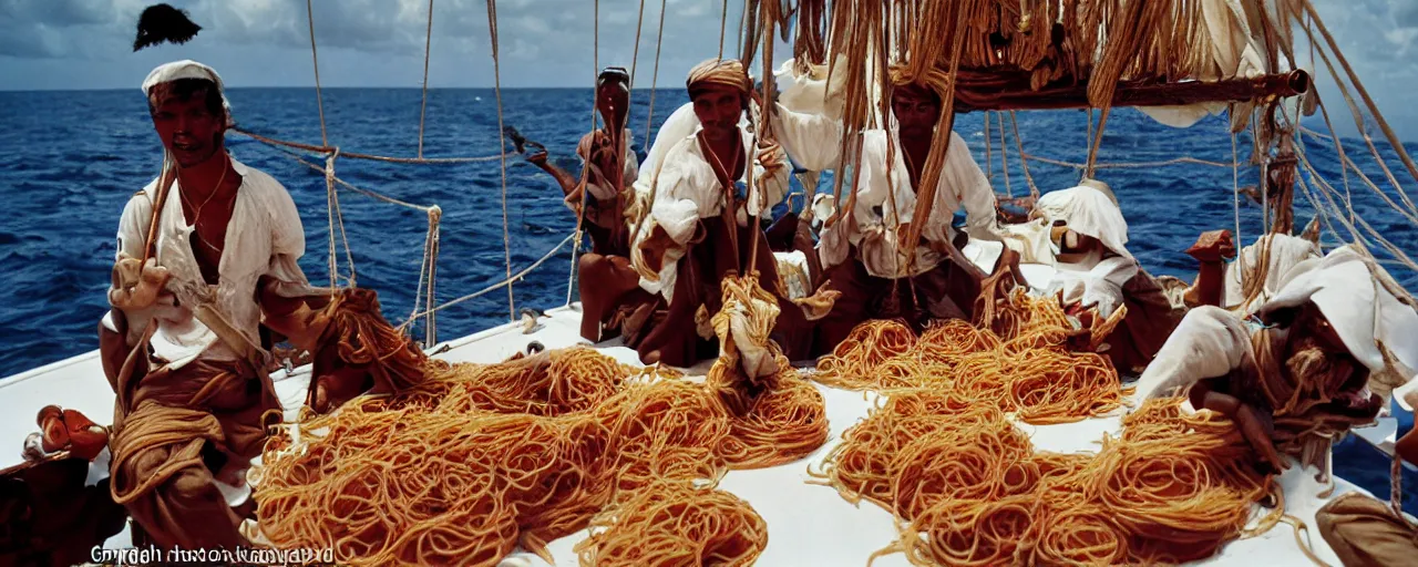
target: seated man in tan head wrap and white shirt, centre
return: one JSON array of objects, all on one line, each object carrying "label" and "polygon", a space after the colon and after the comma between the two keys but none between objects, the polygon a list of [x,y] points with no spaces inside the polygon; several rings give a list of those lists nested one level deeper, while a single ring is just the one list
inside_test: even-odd
[{"label": "seated man in tan head wrap and white shirt, centre", "polygon": [[749,75],[737,61],[709,60],[691,71],[688,89],[700,128],[655,164],[649,215],[631,251],[641,288],[668,303],[641,340],[627,343],[647,364],[689,366],[716,356],[708,323],[719,310],[719,282],[746,274],[750,262],[780,302],[780,332],[791,335],[807,322],[781,292],[767,238],[752,224],[783,200],[788,172],[780,147],[754,147],[753,133],[739,128],[752,96]]}]

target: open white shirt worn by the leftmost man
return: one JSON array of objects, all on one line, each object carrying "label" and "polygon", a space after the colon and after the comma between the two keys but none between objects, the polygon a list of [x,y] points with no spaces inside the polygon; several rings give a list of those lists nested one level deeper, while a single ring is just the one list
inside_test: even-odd
[{"label": "open white shirt worn by the leftmost man", "polygon": [[[156,316],[157,330],[152,337],[152,347],[157,359],[172,367],[199,357],[238,359],[235,350],[193,318],[191,305],[213,305],[237,332],[252,344],[261,344],[257,279],[269,275],[285,288],[282,295],[312,292],[296,264],[305,254],[305,231],[291,194],[271,176],[247,167],[234,157],[231,167],[241,176],[241,187],[227,225],[218,284],[207,285],[201,276],[191,249],[196,227],[189,225],[183,214],[182,183],[173,181],[159,220],[156,259],[157,265],[172,274],[166,291],[172,292],[177,305],[172,305],[169,299],[147,313],[126,313],[130,327],[142,327],[147,316]],[[156,197],[155,179],[142,193],[129,198],[118,225],[118,258],[142,258]]]}]

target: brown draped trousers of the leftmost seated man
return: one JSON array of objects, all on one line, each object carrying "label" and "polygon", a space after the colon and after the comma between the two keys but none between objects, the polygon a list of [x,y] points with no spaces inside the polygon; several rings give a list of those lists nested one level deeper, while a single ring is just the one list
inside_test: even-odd
[{"label": "brown draped trousers of the leftmost seated man", "polygon": [[[113,500],[162,549],[248,544],[242,517],[214,475],[261,454],[264,418],[279,418],[271,380],[245,363],[191,361],[172,370],[128,353],[122,333],[99,330],[109,384],[118,394],[109,464]],[[115,364],[116,363],[116,364]],[[152,369],[152,370],[150,370]]]}]

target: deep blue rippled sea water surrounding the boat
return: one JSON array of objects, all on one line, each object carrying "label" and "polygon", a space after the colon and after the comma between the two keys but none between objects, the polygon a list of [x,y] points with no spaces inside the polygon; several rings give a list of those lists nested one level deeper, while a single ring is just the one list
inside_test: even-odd
[{"label": "deep blue rippled sea water surrounding the boat", "polygon": [[[313,89],[238,88],[227,96],[245,129],[285,140],[320,142]],[[682,89],[658,91],[654,120],[647,120],[649,92],[635,92],[630,125],[637,132],[634,149],[641,157],[647,150],[647,126],[658,128],[685,101]],[[418,89],[325,89],[323,105],[332,146],[383,156],[415,153]],[[506,89],[502,108],[506,125],[546,145],[553,162],[577,172],[573,150],[591,128],[590,91]],[[6,207],[0,223],[0,376],[10,376],[96,347],[95,326],[108,309],[105,289],[119,213],[129,196],[156,174],[162,159],[146,105],[136,89],[0,92],[0,198]],[[1086,120],[1088,115],[1081,111],[1020,112],[1024,149],[1037,156],[1083,162]],[[959,116],[956,129],[977,160],[986,163],[981,115]],[[994,142],[988,170],[995,190],[1004,193],[1008,187],[1012,194],[1027,194],[1012,133],[1007,139],[1007,172],[1000,169],[998,123],[990,136]],[[428,92],[425,156],[492,156],[498,153],[501,137],[493,91]],[[1238,143],[1245,160],[1249,137],[1242,135]],[[328,282],[329,221],[323,176],[242,135],[230,135],[228,147],[237,159],[272,174],[291,191],[306,232],[306,255],[301,265],[312,282]],[[1344,149],[1366,176],[1384,187],[1390,200],[1401,201],[1363,142],[1344,140]],[[1320,174],[1343,196],[1340,162],[1332,142],[1309,137],[1306,150]],[[1414,150],[1409,146],[1409,153],[1418,153]],[[1225,118],[1171,129],[1139,112],[1117,111],[1107,122],[1098,162],[1157,162],[1181,156],[1231,163]],[[1384,157],[1401,181],[1414,181],[1395,155],[1388,152]],[[553,180],[520,157],[508,159],[505,186],[498,160],[393,164],[340,159],[336,173],[354,186],[442,208],[440,302],[505,276],[503,187],[513,271],[545,255],[576,224]],[[1075,169],[1039,162],[1029,163],[1029,173],[1044,191],[1069,187],[1079,177]],[[1143,265],[1156,275],[1191,278],[1195,262],[1183,251],[1195,237],[1208,230],[1235,230],[1232,176],[1231,167],[1180,164],[1107,169],[1096,177],[1117,193],[1130,227],[1129,249]],[[1307,173],[1305,176],[1309,179]],[[1256,167],[1241,169],[1242,187],[1255,186],[1258,180]],[[1357,217],[1405,254],[1418,251],[1414,223],[1357,179],[1350,180],[1349,193]],[[379,291],[386,316],[397,325],[414,309],[427,217],[352,191],[342,191],[339,197],[359,285]],[[1343,200],[1339,207],[1344,207]],[[1248,244],[1261,232],[1261,207],[1242,201],[1239,215],[1239,241]],[[1312,215],[1305,196],[1296,194],[1296,223],[1303,224]],[[1329,228],[1346,241],[1353,240],[1347,228],[1334,223],[1326,230],[1326,244],[1339,240]],[[342,269],[347,269],[343,244],[337,249]],[[1371,249],[1380,258],[1390,258],[1378,244],[1371,244]],[[513,285],[516,306],[549,309],[563,305],[570,264],[570,249],[563,248]],[[1418,289],[1418,274],[1400,266],[1390,266],[1390,271],[1408,289]],[[508,318],[506,292],[498,291],[440,312],[438,335],[448,340]],[[423,336],[417,327],[415,332]],[[1402,431],[1412,427],[1412,415],[1401,418]],[[1388,465],[1377,451],[1349,439],[1336,451],[1334,466],[1341,476],[1387,498]],[[1415,478],[1418,475],[1405,475],[1409,486],[1405,507],[1418,512]]]}]

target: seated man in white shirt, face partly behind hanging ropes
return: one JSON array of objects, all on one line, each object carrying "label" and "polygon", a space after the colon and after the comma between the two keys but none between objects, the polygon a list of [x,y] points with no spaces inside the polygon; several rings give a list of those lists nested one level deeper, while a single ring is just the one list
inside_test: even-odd
[{"label": "seated man in white shirt, face partly behind hanging ropes", "polygon": [[[909,251],[899,249],[916,207],[923,206],[916,203],[916,191],[937,135],[940,96],[920,85],[898,85],[892,113],[896,129],[862,135],[856,196],[844,197],[837,223],[822,228],[818,254],[824,276],[828,288],[842,295],[818,326],[814,354],[830,353],[868,319],[900,316],[917,327],[927,319],[970,319],[980,282],[998,259],[976,266],[956,247],[950,221],[961,206],[968,238],[1000,237],[990,181],[954,132],[949,133],[946,164],[913,264]],[[888,136],[895,137],[895,152],[888,147]]]}]

